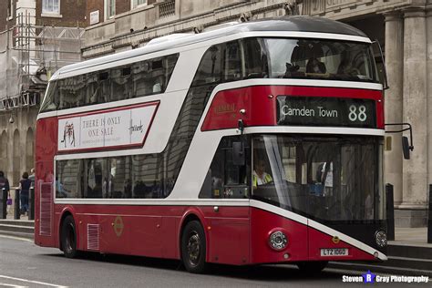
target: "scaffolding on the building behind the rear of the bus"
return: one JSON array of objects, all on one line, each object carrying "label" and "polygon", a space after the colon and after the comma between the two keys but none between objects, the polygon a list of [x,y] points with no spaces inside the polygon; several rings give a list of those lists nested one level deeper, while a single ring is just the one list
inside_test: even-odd
[{"label": "scaffolding on the building behind the rear of the bus", "polygon": [[36,106],[60,67],[81,61],[84,28],[37,26],[20,14],[0,33],[0,110]]}]

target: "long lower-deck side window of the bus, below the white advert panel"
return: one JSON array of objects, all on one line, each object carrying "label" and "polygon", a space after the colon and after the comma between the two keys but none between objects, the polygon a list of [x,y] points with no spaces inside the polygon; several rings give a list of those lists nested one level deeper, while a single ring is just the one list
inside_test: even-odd
[{"label": "long lower-deck side window of the bus, below the white advert panel", "polygon": [[56,163],[57,198],[164,198],[161,157],[157,154]]}]

